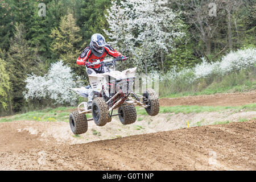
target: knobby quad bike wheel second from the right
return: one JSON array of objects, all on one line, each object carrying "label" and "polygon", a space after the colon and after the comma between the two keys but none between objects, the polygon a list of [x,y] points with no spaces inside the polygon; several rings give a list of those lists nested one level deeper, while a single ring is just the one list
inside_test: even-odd
[{"label": "knobby quad bike wheel second from the right", "polygon": [[134,123],[137,119],[137,111],[134,105],[124,104],[118,108],[119,119],[123,125]]}]

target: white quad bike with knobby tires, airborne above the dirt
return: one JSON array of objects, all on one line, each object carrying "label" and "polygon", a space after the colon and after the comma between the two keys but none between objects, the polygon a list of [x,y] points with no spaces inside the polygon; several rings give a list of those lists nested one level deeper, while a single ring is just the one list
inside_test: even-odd
[{"label": "white quad bike with knobby tires, airborne above the dirt", "polygon": [[[93,90],[92,109],[87,109],[87,102],[82,102],[77,106],[77,110],[69,114],[69,124],[74,134],[86,133],[88,121],[94,120],[97,126],[104,126],[112,121],[112,117],[119,116],[123,125],[134,123],[137,119],[135,105],[144,107],[148,115],[154,116],[159,113],[159,100],[156,92],[148,88],[142,94],[133,92],[135,81],[135,68],[125,71],[115,71],[115,61],[101,61],[89,64],[93,66],[102,64],[107,68],[107,72],[88,75],[90,86]],[[75,90],[80,96],[87,97],[81,90]],[[117,114],[113,110],[117,109]],[[87,113],[92,113],[92,118],[87,119]]]}]

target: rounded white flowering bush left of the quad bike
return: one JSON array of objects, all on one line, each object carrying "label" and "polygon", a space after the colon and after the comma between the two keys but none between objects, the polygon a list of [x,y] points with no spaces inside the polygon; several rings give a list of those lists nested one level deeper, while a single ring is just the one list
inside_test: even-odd
[{"label": "rounded white flowering bush left of the quad bike", "polygon": [[45,76],[28,75],[26,79],[26,92],[24,98],[42,99],[49,98],[54,100],[56,104],[75,105],[77,94],[68,88],[81,86],[80,77],[75,77],[67,65],[63,61],[51,64],[51,68]]}]

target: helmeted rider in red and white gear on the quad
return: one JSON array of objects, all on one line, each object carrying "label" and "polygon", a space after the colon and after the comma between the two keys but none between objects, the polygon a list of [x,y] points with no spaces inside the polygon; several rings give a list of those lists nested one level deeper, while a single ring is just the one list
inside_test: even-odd
[{"label": "helmeted rider in red and white gear on the quad", "polygon": [[[76,63],[86,66],[86,72],[88,75],[93,73],[104,73],[106,68],[102,64],[96,64],[93,66],[89,66],[89,64],[96,61],[103,61],[107,55],[121,60],[126,60],[125,56],[115,51],[113,47],[105,43],[104,36],[101,34],[93,34],[92,39],[90,40],[90,45],[82,51]],[[92,107],[92,97],[92,88],[89,88],[87,109]]]}]

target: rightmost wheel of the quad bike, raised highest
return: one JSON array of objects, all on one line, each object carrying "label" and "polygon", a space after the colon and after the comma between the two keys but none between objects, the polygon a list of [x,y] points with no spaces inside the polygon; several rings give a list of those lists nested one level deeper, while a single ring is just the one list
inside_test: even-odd
[{"label": "rightmost wheel of the quad bike, raised highest", "polygon": [[146,97],[143,98],[144,104],[149,105],[146,109],[147,114],[154,116],[159,113],[159,100],[158,100],[158,95],[156,94],[155,90],[149,88],[146,90],[145,93],[143,93],[143,96]]}]

